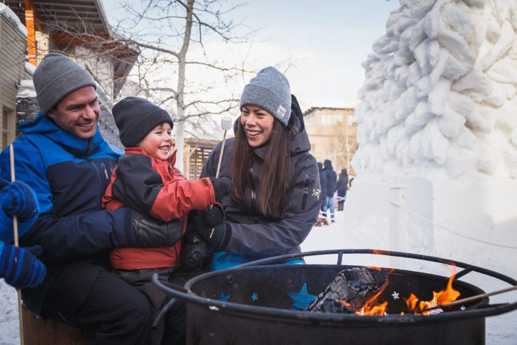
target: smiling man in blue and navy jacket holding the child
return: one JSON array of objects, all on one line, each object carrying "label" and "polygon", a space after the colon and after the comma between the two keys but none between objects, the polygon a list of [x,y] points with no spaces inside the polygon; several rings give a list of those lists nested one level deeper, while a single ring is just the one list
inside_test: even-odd
[{"label": "smiling man in blue and navy jacket holding the child", "polygon": [[[47,276],[39,287],[23,290],[24,303],[43,318],[93,329],[93,344],[148,343],[149,301],[109,272],[107,253],[113,247],[172,246],[181,224],[127,207],[101,210],[123,152],[98,131],[94,79],[72,59],[50,53],[33,80],[40,112],[20,125],[24,135],[13,147],[16,177],[34,189],[41,210],[36,220],[20,222],[26,231],[20,243],[42,247]],[[0,154],[0,169],[8,178],[8,149]],[[183,322],[184,308],[176,306]]]}]

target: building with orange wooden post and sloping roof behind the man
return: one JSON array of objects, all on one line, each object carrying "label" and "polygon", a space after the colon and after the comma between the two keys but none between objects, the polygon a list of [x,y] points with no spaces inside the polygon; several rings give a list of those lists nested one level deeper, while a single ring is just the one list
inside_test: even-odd
[{"label": "building with orange wooden post and sloping roof behind the man", "polygon": [[[2,1],[5,4],[3,6],[8,6],[26,28],[24,33],[16,34],[16,27],[7,27],[5,36],[0,38],[0,61],[12,66],[9,69],[10,74],[0,74],[1,85],[8,86],[6,91],[3,86],[0,91],[2,107],[7,114],[7,120],[3,119],[3,124],[7,127],[2,129],[3,133],[6,132],[7,139],[2,142],[2,148],[16,138],[14,124],[31,121],[37,115],[34,111],[37,109],[34,98],[31,103],[28,99],[17,101],[16,97],[16,85],[24,80],[32,80],[34,69],[31,71],[30,67],[25,68],[25,61],[35,67],[49,52],[71,56],[92,73],[99,85],[97,93],[101,106],[101,133],[111,144],[123,147],[111,115],[111,100],[125,83],[140,51],[112,40],[118,36],[108,25],[100,0]],[[5,20],[2,25],[2,28],[8,26]],[[108,40],[111,43],[105,43]],[[2,71],[5,70],[2,65]]]}]

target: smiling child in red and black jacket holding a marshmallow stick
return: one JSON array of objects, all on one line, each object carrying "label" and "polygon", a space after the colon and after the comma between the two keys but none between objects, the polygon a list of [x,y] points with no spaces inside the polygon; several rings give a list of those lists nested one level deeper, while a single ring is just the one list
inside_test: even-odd
[{"label": "smiling child in red and black jacket holding a marshmallow stick", "polygon": [[[110,253],[113,273],[148,297],[154,320],[165,304],[165,295],[150,281],[151,276],[158,273],[160,280],[165,281],[172,276],[179,263],[180,237],[187,228],[187,213],[220,201],[231,192],[231,182],[229,178],[187,181],[174,167],[172,118],[148,100],[124,98],[113,107],[113,117],[120,141],[125,146],[125,155],[120,157],[111,175],[102,206],[109,210],[129,206],[163,221],[179,218],[183,224],[173,247],[115,248]],[[161,342],[163,326],[161,322],[154,330],[154,343]],[[168,321],[165,338],[172,331],[170,328]]]}]

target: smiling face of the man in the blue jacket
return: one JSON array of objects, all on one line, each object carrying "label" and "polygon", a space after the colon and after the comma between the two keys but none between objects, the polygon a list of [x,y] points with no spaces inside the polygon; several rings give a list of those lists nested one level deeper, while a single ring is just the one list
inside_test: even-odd
[{"label": "smiling face of the man in the blue jacket", "polygon": [[57,127],[82,139],[92,138],[97,130],[100,108],[93,86],[69,93],[48,113]]}]

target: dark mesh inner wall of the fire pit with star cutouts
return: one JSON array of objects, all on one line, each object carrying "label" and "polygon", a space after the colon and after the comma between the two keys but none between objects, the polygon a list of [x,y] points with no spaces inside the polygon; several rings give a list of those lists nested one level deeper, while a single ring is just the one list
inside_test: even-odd
[{"label": "dark mesh inner wall of the fire pit with star cutouts", "polygon": [[[194,281],[189,288],[197,296],[222,302],[305,310],[342,269],[351,267],[354,266],[255,266],[223,275],[207,276],[205,279]],[[448,280],[446,277],[402,270],[395,270],[388,277],[388,286],[378,297],[379,302],[388,301],[388,315],[410,312],[404,301],[410,293],[424,301],[430,301],[433,291],[443,290]],[[481,289],[462,281],[455,282],[453,288],[460,292],[462,298],[484,293]],[[488,298],[453,306],[447,310],[460,310],[481,304],[488,304]]]}]

